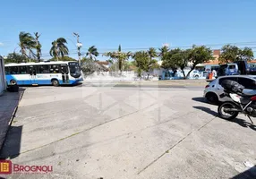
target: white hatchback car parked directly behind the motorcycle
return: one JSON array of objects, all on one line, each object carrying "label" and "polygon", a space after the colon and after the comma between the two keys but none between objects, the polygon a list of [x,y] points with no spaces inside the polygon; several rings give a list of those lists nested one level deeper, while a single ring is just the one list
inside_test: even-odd
[{"label": "white hatchback car parked directly behind the motorcycle", "polygon": [[223,87],[220,85],[224,80],[236,81],[239,84],[242,84],[245,88],[243,93],[254,94],[256,90],[256,75],[230,75],[230,76],[221,76],[210,81],[206,85],[203,91],[203,97],[207,98],[209,103],[216,104],[218,102],[224,102],[232,100],[231,98],[224,97],[220,98],[219,96],[224,93]]}]

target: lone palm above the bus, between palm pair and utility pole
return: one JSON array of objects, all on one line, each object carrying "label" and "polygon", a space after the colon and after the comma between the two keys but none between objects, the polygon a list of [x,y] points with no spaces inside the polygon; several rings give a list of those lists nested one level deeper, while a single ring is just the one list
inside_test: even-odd
[{"label": "lone palm above the bus, between palm pair and utility pole", "polygon": [[67,44],[67,41],[65,38],[57,38],[55,41],[52,42],[52,47],[50,49],[50,55],[54,56],[57,61],[59,60],[59,56],[62,57],[64,55],[68,55],[68,47],[65,46]]}]

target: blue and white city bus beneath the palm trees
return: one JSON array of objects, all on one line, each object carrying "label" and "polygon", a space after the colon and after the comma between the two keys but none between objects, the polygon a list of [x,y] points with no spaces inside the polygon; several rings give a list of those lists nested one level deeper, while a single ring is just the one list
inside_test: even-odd
[{"label": "blue and white city bus beneath the palm trees", "polygon": [[5,64],[8,85],[75,84],[82,81],[81,68],[77,62],[40,62]]}]

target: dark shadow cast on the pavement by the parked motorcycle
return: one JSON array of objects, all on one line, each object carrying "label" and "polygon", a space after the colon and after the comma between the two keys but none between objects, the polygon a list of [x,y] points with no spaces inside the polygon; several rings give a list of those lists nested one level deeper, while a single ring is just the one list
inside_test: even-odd
[{"label": "dark shadow cast on the pavement by the parked motorcycle", "polygon": [[[199,109],[201,111],[204,111],[205,113],[208,113],[210,115],[218,116],[218,113],[216,111],[211,110],[209,107],[193,107],[193,108],[196,108],[196,109]],[[223,120],[225,120],[225,119],[223,119]],[[228,121],[228,120],[226,120],[226,121]],[[229,122],[239,124],[242,127],[246,127],[246,128],[249,127],[252,130],[256,131],[256,125],[248,123],[247,121],[245,121],[243,119],[235,118],[235,119],[233,119],[233,120],[231,120]]]}]

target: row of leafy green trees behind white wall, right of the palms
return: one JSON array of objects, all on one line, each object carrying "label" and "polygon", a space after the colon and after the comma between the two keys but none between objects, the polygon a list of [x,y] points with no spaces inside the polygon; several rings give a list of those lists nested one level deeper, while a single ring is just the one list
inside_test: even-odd
[{"label": "row of leafy green trees behind white wall, right of the palms", "polygon": [[[214,60],[213,50],[205,46],[195,46],[188,49],[174,48],[170,49],[167,46],[158,48],[149,47],[149,50],[138,51],[135,53],[124,53],[119,47],[118,51],[107,52],[104,55],[110,58],[110,62],[118,64],[118,70],[122,72],[122,64],[129,58],[132,58],[132,64],[136,66],[138,75],[141,76],[141,72],[149,72],[154,69],[163,68],[166,70],[176,71],[180,69],[183,72],[184,79],[190,76],[190,73],[196,68],[197,64],[205,64],[210,60]],[[220,50],[218,58],[219,64],[232,63],[237,60],[251,61],[253,59],[253,51],[250,47],[239,48],[232,45],[225,45]],[[162,61],[158,64],[158,61]],[[185,69],[189,69],[189,72],[185,74]]]}]

